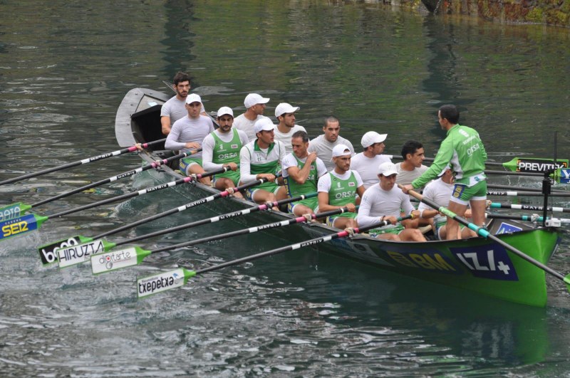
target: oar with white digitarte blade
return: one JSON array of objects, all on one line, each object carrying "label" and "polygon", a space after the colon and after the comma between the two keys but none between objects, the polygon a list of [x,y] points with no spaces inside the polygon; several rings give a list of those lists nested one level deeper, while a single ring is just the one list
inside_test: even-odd
[{"label": "oar with white digitarte blade", "polygon": [[262,224],[261,226],[250,227],[248,229],[242,229],[237,231],[231,231],[227,233],[222,233],[214,236],[207,236],[205,238],[198,238],[192,241],[185,241],[183,243],[178,243],[173,246],[165,246],[162,248],[157,248],[152,251],[147,251],[142,249],[140,246],[128,247],[118,251],[110,251],[107,253],[98,253],[91,256],[91,270],[93,274],[107,273],[110,271],[115,271],[115,269],[126,268],[128,266],[135,266],[142,263],[142,260],[146,256],[150,256],[154,253],[160,253],[164,251],[170,251],[172,249],[195,246],[196,244],[207,243],[209,241],[218,241],[225,238],[232,238],[239,235],[247,235],[248,233],[254,233],[257,231],[275,229],[277,227],[289,226],[291,224],[299,224],[311,219],[326,218],[327,216],[342,214],[348,211],[346,207],[342,209],[334,209],[331,211],[325,211],[318,214],[306,214],[306,216],[299,216],[294,219],[288,219],[286,221],[278,221],[270,224]]}]

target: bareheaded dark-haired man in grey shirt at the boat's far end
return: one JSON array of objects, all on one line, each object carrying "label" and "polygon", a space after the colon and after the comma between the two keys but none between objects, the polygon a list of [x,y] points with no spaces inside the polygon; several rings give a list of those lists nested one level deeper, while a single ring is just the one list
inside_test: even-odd
[{"label": "bareheaded dark-haired man in grey shirt at the boat's far end", "polygon": [[[187,73],[179,71],[172,79],[172,89],[174,89],[176,95],[162,104],[160,108],[160,125],[162,126],[162,134],[164,135],[170,133],[174,122],[188,114],[185,105],[186,97],[191,89],[190,76]],[[202,105],[200,114],[207,115],[204,105]]]}]

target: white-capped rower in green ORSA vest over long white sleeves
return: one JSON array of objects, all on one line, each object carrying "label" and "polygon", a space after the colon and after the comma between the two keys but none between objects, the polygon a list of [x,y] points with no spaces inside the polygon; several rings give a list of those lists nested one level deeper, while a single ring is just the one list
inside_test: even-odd
[{"label": "white-capped rower in green ORSA vest over long white sleeves", "polygon": [[[232,127],[234,112],[231,107],[220,107],[217,112],[217,121],[219,127],[210,132],[202,142],[202,163],[207,171],[224,167],[232,169],[213,177],[214,187],[223,191],[237,186],[239,151],[249,143],[249,140],[245,132]],[[234,196],[243,198],[239,191],[236,191]]]}]

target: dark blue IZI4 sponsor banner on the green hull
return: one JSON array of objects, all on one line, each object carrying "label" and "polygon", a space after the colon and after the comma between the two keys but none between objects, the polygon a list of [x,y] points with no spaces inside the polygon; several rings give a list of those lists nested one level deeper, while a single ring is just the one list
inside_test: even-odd
[{"label": "dark blue IZI4 sponsor banner on the green hull", "polygon": [[450,251],[475,277],[491,280],[519,280],[507,250],[499,244],[450,248]]}]

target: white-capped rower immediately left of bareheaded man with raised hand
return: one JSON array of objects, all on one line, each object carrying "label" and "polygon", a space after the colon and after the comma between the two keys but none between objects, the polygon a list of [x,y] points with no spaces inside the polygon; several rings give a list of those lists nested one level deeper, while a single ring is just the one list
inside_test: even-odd
[{"label": "white-capped rower immediately left of bareheaded man with raised hand", "polygon": [[285,146],[274,141],[273,122],[263,117],[254,125],[256,139],[242,147],[239,152],[240,182],[247,184],[261,178],[268,181],[246,189],[244,194],[258,204],[280,201],[287,198],[285,187],[275,183],[277,171],[285,157]]}]

